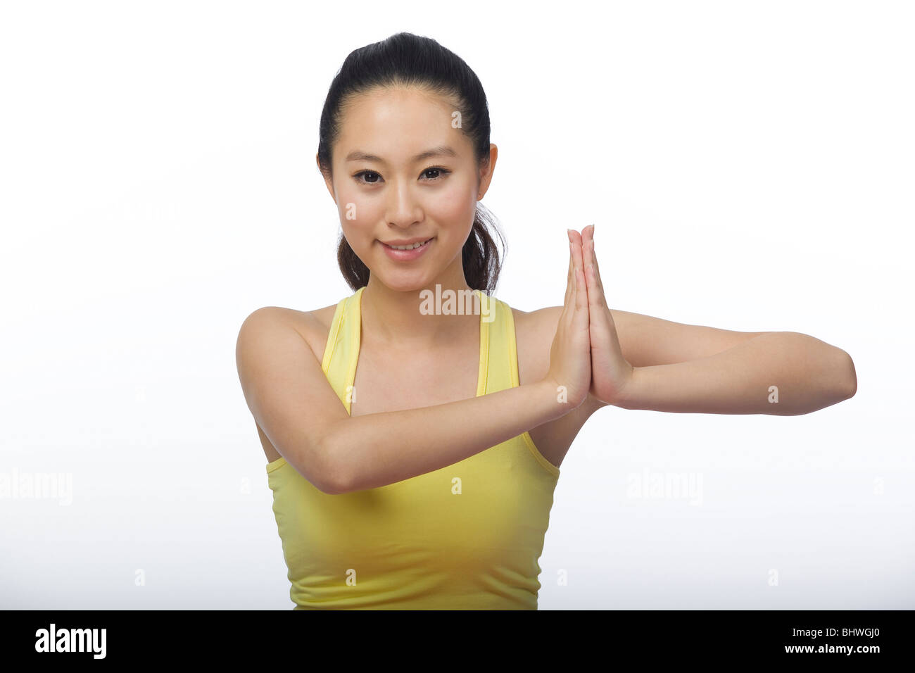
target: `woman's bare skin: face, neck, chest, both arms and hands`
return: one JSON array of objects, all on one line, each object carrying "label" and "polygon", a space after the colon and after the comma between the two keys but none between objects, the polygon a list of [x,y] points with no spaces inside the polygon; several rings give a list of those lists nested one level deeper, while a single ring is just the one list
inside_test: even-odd
[{"label": "woman's bare skin: face, neck, chest, both arms and hands", "polygon": [[[237,361],[268,461],[285,457],[318,488],[346,493],[444,467],[525,429],[559,466],[587,419],[608,405],[795,415],[855,394],[848,354],[811,336],[609,309],[588,226],[567,231],[563,306],[512,309],[521,385],[473,399],[479,316],[419,308],[421,289],[469,289],[461,249],[498,157],[490,145],[478,164],[451,125],[453,109],[430,92],[399,88],[362,93],[345,110],[325,181],[344,236],[371,269],[358,404],[347,415],[320,370],[336,305],[254,311],[239,333]],[[414,159],[443,146],[453,155]],[[377,158],[351,158],[356,152]],[[382,241],[414,237],[433,239],[417,260],[384,252]],[[771,385],[779,387],[778,404]],[[559,386],[565,402],[556,401]],[[467,418],[475,419],[472,429]],[[406,445],[383,439],[405,434]]]}]

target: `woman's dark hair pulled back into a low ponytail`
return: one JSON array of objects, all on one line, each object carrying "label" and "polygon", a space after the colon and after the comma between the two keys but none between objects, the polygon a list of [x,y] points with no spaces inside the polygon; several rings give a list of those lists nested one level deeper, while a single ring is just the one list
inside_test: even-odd
[{"label": "woman's dark hair pulled back into a low ponytail", "polygon": [[[375,87],[416,85],[446,96],[460,111],[460,128],[474,147],[479,165],[490,157],[490,110],[479,78],[457,54],[432,38],[412,33],[397,33],[381,42],[350,52],[330,83],[321,112],[318,163],[322,173],[331,175],[330,148],[339,137],[340,116],[350,97]],[[492,294],[499,280],[501,255],[490,229],[502,244],[504,239],[496,220],[481,203],[473,218],[473,228],[461,251],[464,277],[471,289]],[[337,263],[350,288],[357,290],[369,282],[369,267],[353,252],[340,233]]]}]

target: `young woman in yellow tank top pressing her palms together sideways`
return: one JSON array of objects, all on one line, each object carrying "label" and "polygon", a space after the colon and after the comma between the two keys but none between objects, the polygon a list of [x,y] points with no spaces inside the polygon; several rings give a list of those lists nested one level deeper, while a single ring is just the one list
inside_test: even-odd
[{"label": "young woman in yellow tank top pressing her palms together sideways", "polygon": [[357,49],[330,86],[317,161],[354,293],[255,310],[237,345],[296,609],[535,609],[559,466],[598,408],[855,394],[851,358],[813,337],[609,309],[593,226],[568,231],[563,306],[495,299],[496,157],[477,76],[433,39]]}]

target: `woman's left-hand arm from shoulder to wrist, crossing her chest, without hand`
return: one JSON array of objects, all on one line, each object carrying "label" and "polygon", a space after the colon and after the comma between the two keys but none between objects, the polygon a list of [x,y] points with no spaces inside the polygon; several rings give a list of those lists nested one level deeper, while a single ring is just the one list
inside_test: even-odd
[{"label": "woman's left-hand arm from shoulder to wrist, crossing her chest, without hand", "polygon": [[576,400],[557,401],[556,385],[544,378],[458,402],[350,417],[282,309],[258,309],[244,321],[236,361],[258,427],[328,494],[447,467],[576,407]]}]

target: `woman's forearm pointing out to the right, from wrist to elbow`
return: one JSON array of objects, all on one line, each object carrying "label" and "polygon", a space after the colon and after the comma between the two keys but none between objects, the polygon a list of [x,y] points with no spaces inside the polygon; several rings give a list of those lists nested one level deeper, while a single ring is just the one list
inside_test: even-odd
[{"label": "woman's forearm pointing out to the right, from wrist to elbow", "polygon": [[795,416],[855,395],[856,385],[848,353],[807,334],[778,331],[700,360],[636,367],[613,404],[674,413]]}]

